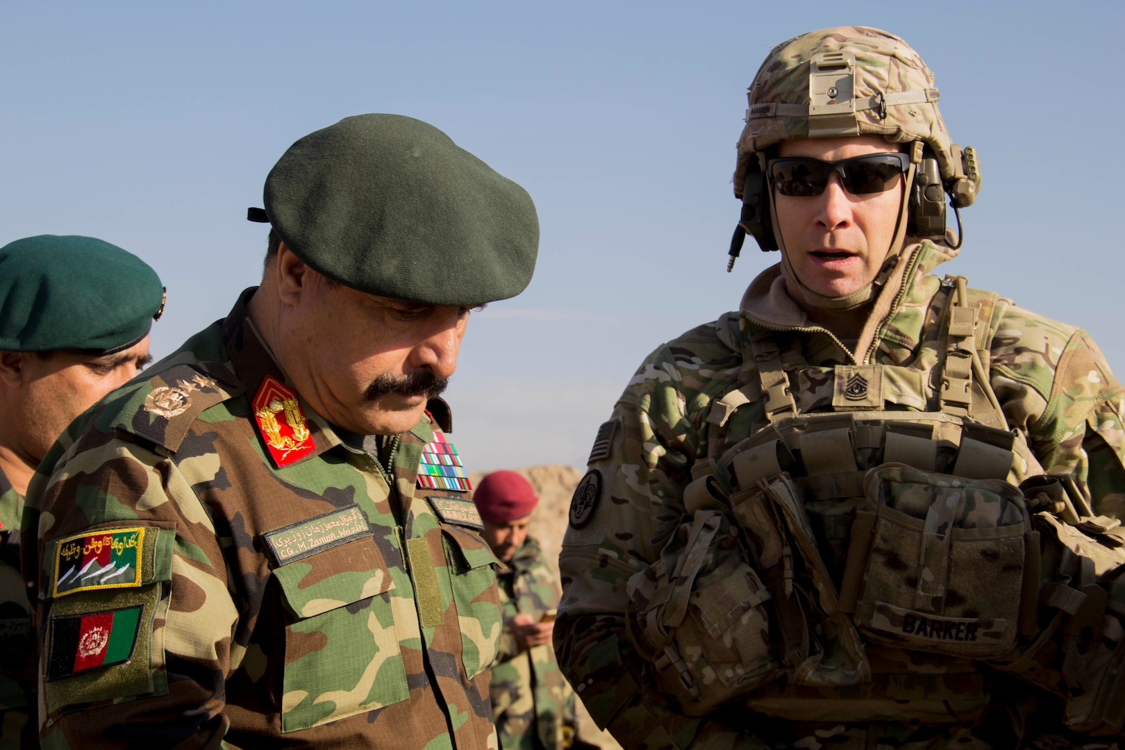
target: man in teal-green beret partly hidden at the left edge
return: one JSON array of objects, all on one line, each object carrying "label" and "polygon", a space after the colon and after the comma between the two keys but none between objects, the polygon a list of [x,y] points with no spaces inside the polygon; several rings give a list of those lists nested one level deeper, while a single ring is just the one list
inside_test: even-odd
[{"label": "man in teal-green beret partly hidden at the left edge", "polygon": [[148,363],[163,299],[155,271],[101,240],[39,235],[0,247],[0,749],[38,747],[19,575],[27,484],[74,417]]}]

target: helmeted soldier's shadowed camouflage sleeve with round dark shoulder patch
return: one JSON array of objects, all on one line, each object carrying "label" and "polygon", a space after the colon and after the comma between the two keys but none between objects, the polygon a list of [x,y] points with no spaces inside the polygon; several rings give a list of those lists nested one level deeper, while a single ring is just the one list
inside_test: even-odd
[{"label": "helmeted soldier's shadowed camouflage sleeve with round dark shoulder patch", "polygon": [[595,445],[559,555],[555,650],[591,716],[624,747],[765,748],[721,720],[682,713],[657,690],[627,632],[627,581],[657,559],[680,523],[683,488],[703,448],[690,418],[702,399],[685,389],[685,371],[694,377],[667,346],[658,349],[603,425],[606,448],[596,458]]}]

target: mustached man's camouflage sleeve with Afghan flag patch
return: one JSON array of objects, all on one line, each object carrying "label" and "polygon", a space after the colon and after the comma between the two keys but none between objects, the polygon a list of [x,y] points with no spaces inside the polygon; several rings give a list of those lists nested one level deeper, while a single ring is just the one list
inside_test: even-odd
[{"label": "mustached man's camouflage sleeve with Afghan flag patch", "polygon": [[237,612],[215,527],[173,461],[107,437],[76,443],[44,482],[44,747],[231,747]]}]

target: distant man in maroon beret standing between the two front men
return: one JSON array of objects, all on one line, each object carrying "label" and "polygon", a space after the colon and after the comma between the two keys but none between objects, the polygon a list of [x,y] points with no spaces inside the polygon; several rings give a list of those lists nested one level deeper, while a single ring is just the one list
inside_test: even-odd
[{"label": "distant man in maroon beret standing between the two front men", "polygon": [[482,535],[507,570],[498,576],[504,634],[489,694],[501,750],[561,750],[575,731],[574,692],[555,661],[551,635],[558,580],[528,535],[539,503],[514,471],[494,471],[472,495]]}]

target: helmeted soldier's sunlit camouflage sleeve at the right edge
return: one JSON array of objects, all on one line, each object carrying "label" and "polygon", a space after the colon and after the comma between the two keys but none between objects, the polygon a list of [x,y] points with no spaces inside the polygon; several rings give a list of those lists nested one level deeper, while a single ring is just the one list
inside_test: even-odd
[{"label": "helmeted soldier's sunlit camouflage sleeve at the right edge", "polygon": [[991,356],[1008,424],[1044,470],[1074,477],[1096,514],[1125,518],[1125,388],[1089,334],[1009,307]]}]

